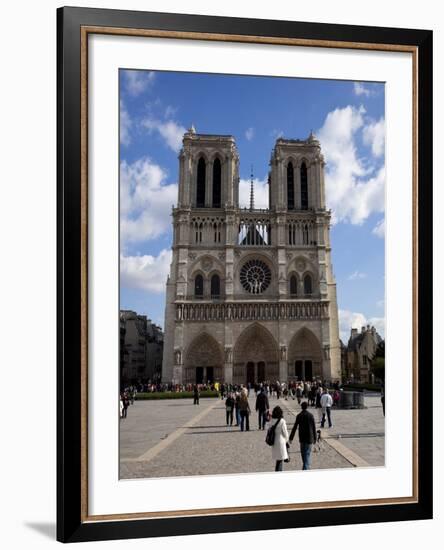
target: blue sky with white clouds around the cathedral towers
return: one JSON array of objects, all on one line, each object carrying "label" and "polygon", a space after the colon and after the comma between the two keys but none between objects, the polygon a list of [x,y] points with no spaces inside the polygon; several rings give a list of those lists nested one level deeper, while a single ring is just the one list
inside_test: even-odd
[{"label": "blue sky with white clouds around the cathedral towers", "polygon": [[340,332],[374,324],[384,336],[384,85],[349,81],[121,70],[121,309],[163,326],[183,133],[231,134],[240,200],[251,165],[255,204],[267,206],[268,162],[279,136],[311,130],[327,161]]}]

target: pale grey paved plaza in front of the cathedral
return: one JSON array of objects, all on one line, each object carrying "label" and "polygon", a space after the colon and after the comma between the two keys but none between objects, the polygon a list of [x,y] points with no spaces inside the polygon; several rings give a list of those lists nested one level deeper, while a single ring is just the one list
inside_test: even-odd
[{"label": "pale grey paved plaza in front of the cathedral", "polygon": [[[250,431],[226,426],[224,401],[192,399],[136,401],[120,421],[121,479],[236,474],[274,470],[265,431],[258,430],[250,394]],[[301,410],[296,400],[270,399],[279,404],[289,431]],[[365,396],[365,409],[332,411],[332,428],[322,430],[322,442],[312,453],[312,469],[384,465],[384,416],[379,395]],[[318,410],[309,408],[318,423]],[[268,424],[269,425],[269,424]],[[317,424],[319,426],[319,423]],[[284,470],[302,468],[298,435]]]}]

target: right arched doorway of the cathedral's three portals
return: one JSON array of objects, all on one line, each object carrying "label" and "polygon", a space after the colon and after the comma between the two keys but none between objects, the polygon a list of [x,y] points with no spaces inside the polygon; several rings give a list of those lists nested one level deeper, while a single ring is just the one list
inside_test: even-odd
[{"label": "right arched doorway of the cathedral's three portals", "polygon": [[319,340],[307,328],[299,330],[288,348],[288,376],[297,380],[322,378],[322,350]]}]

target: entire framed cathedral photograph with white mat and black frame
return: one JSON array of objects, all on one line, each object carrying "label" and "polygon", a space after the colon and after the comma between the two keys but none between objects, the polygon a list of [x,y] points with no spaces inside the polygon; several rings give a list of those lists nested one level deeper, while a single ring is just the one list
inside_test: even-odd
[{"label": "entire framed cathedral photograph with white mat and black frame", "polygon": [[62,542],[432,517],[432,32],[60,8]]}]

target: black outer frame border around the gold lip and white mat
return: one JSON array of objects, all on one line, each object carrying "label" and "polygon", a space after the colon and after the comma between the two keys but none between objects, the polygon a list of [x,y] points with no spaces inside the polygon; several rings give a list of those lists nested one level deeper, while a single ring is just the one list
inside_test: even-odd
[{"label": "black outer frame border around the gold lip and white mat", "polygon": [[[85,520],[82,512],[81,29],[157,29],[329,42],[406,45],[417,49],[417,380],[416,502],[242,513]],[[146,13],[91,8],[57,10],[57,539],[62,542],[254,531],[432,518],[432,32]],[[84,344],[84,342],[83,342]]]}]

